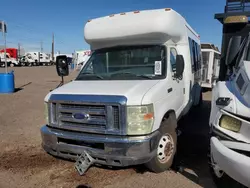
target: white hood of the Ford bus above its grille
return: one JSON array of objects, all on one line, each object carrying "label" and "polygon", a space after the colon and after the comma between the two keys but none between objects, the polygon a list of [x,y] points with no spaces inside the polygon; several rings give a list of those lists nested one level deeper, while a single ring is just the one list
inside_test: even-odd
[{"label": "white hood of the Ford bus above its grille", "polygon": [[159,80],[73,81],[50,92],[45,101],[52,94],[119,95],[127,98],[127,105],[141,105],[144,95],[158,82]]}]

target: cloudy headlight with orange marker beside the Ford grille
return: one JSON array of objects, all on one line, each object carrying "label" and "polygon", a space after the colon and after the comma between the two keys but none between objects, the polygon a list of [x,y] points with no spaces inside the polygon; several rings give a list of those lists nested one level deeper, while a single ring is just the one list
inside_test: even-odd
[{"label": "cloudy headlight with orange marker beside the Ford grille", "polygon": [[153,104],[127,107],[127,134],[143,135],[152,131],[154,124]]}]

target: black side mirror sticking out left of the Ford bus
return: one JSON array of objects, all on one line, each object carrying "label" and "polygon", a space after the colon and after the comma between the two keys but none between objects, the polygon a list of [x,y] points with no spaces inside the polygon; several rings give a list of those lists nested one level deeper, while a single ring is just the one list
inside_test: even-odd
[{"label": "black side mirror sticking out left of the Ford bus", "polygon": [[69,75],[69,64],[68,58],[65,55],[56,57],[56,71],[58,76],[68,76]]}]

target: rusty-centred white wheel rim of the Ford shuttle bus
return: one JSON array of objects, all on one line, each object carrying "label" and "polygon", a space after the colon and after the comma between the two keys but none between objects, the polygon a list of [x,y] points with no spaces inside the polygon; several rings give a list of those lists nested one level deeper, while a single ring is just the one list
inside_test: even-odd
[{"label": "rusty-centred white wheel rim of the Ford shuttle bus", "polygon": [[158,160],[161,163],[168,162],[174,153],[174,141],[171,135],[167,134],[161,137],[157,149]]}]

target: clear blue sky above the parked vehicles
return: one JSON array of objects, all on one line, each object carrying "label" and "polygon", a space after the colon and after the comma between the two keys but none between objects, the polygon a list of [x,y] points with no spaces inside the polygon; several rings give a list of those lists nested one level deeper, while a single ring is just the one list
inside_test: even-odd
[{"label": "clear blue sky above the parked vehicles", "polygon": [[[88,19],[114,13],[173,8],[201,36],[202,42],[221,45],[222,25],[214,19],[224,10],[226,0],[8,0],[1,2],[0,20],[8,25],[7,45],[21,44],[26,51],[51,52],[52,33],[55,49],[61,53],[88,49],[83,27]],[[3,44],[2,36],[0,45]]]}]

